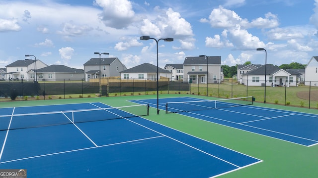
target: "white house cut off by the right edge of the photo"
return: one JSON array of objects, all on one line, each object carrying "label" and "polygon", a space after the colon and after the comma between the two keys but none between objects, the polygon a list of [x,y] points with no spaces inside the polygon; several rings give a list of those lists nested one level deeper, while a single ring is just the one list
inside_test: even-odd
[{"label": "white house cut off by the right edge of the photo", "polygon": [[318,56],[312,57],[305,68],[305,85],[318,87]]}]

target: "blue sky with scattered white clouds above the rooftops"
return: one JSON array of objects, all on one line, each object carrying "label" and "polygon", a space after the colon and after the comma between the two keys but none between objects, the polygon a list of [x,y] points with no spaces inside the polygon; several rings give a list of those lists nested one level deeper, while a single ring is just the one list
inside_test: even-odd
[{"label": "blue sky with scattered white clouds above the rooftops", "polygon": [[[35,55],[83,68],[94,52],[127,68],[183,63],[186,56],[307,64],[318,49],[318,0],[0,0],[0,68]],[[33,59],[33,57],[30,57]]]}]

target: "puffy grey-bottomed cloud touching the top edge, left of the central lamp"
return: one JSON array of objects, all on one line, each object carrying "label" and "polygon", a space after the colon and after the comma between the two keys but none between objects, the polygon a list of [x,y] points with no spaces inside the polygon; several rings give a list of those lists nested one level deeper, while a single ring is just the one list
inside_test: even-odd
[{"label": "puffy grey-bottomed cloud touching the top edge, left of the central lamp", "polygon": [[128,27],[135,18],[135,12],[129,0],[95,0],[103,8],[99,14],[106,26],[122,29]]}]

